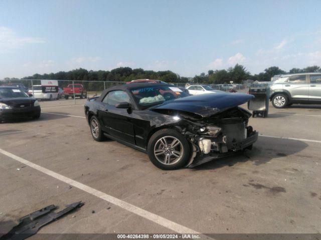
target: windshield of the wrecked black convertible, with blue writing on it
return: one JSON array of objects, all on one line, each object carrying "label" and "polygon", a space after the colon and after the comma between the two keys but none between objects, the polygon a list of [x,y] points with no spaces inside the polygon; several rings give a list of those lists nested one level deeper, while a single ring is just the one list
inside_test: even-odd
[{"label": "windshield of the wrecked black convertible, with blue writing on it", "polygon": [[175,86],[146,86],[131,89],[135,100],[142,108],[173,100],[188,94]]}]

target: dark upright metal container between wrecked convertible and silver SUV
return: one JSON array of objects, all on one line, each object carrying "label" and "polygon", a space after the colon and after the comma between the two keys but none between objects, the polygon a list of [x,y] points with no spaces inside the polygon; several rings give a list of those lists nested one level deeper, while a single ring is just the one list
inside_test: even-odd
[{"label": "dark upright metal container between wrecked convertible and silver SUV", "polygon": [[270,88],[267,84],[253,84],[249,88],[249,94],[255,96],[247,102],[247,107],[252,110],[253,117],[267,117],[269,111]]}]

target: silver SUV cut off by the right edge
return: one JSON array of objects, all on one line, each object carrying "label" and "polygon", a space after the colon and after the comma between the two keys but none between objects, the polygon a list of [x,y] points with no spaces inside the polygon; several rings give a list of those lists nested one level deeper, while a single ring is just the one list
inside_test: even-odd
[{"label": "silver SUV cut off by the right edge", "polygon": [[321,103],[321,72],[274,76],[270,83],[270,100],[276,108],[292,103]]}]

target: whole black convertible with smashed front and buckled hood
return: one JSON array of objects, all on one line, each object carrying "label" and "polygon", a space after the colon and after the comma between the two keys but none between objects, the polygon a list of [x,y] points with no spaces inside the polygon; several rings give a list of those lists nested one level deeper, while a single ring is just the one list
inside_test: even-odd
[{"label": "whole black convertible with smashed front and buckled hood", "polygon": [[106,89],[85,103],[92,137],[148,153],[162,169],[195,166],[251,149],[258,132],[240,104],[243,93],[188,95],[170,84],[132,83]]}]

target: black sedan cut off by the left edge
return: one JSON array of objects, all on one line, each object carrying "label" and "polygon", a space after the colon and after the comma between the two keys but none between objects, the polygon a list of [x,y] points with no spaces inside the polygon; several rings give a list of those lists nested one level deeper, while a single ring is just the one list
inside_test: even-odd
[{"label": "black sedan cut off by the left edge", "polygon": [[0,86],[0,120],[40,117],[39,102],[18,87]]}]

